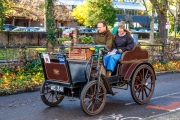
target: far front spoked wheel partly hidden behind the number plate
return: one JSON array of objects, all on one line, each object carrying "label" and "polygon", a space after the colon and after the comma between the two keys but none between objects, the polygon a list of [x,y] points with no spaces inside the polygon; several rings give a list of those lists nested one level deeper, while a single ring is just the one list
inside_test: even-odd
[{"label": "far front spoked wheel partly hidden behind the number plate", "polygon": [[50,85],[45,81],[41,85],[40,94],[42,101],[51,107],[57,106],[64,99],[64,96],[52,91]]}]

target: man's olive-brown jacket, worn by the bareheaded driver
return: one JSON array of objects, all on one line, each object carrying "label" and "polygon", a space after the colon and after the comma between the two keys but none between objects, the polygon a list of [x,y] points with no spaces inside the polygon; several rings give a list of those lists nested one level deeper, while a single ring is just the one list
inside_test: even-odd
[{"label": "man's olive-brown jacket, worn by the bareheaded driver", "polygon": [[106,45],[108,49],[111,50],[113,44],[114,36],[109,30],[104,31],[103,33],[97,33],[95,35],[95,44],[97,45]]}]

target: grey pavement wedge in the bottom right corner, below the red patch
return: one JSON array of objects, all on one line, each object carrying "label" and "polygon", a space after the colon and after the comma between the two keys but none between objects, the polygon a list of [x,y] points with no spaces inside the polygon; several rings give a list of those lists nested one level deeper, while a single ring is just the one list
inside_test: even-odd
[{"label": "grey pavement wedge in the bottom right corner, below the red patch", "polygon": [[148,118],[144,118],[143,120],[180,120],[180,109],[177,111],[154,115]]}]

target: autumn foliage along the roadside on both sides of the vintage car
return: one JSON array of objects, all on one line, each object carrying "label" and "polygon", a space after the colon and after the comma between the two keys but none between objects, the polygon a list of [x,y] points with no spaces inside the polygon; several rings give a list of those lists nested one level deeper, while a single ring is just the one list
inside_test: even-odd
[{"label": "autumn foliage along the roadside on both sides of the vintage car", "polygon": [[[37,64],[38,63],[38,64]],[[38,60],[25,67],[6,68],[0,70],[0,95],[16,93],[18,89],[31,90],[40,86],[44,80],[42,67]],[[33,66],[33,67],[32,67]],[[157,61],[153,64],[155,72],[180,70],[180,61],[169,61],[161,63]]]}]

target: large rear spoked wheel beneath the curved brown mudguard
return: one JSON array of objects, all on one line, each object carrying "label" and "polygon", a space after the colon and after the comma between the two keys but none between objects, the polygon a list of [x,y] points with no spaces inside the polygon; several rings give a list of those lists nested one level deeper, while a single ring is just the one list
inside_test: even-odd
[{"label": "large rear spoked wheel beneath the curved brown mudguard", "polygon": [[131,81],[131,95],[138,104],[147,103],[153,95],[155,74],[148,65],[140,65],[133,74]]}]

